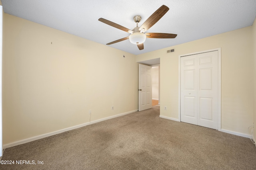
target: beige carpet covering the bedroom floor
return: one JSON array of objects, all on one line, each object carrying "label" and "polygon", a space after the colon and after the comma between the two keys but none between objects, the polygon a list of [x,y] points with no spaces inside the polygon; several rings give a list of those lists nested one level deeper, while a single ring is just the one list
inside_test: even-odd
[{"label": "beige carpet covering the bedroom floor", "polygon": [[[248,138],[159,117],[159,105],[7,148],[1,170],[255,170]],[[37,164],[43,161],[44,164]]]}]

